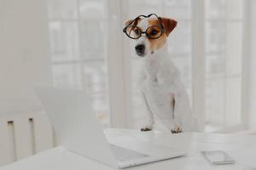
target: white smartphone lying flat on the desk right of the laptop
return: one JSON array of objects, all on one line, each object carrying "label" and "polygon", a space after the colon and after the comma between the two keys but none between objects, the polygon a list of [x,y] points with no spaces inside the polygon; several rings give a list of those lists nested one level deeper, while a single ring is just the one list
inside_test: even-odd
[{"label": "white smartphone lying flat on the desk right of the laptop", "polygon": [[234,164],[236,162],[223,150],[201,151],[201,154],[213,165]]}]

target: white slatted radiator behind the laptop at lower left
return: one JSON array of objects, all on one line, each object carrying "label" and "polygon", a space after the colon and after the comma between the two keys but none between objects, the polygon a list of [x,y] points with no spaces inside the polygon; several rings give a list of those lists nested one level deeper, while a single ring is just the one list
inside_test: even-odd
[{"label": "white slatted radiator behind the laptop at lower left", "polygon": [[44,111],[0,114],[0,167],[54,146]]}]

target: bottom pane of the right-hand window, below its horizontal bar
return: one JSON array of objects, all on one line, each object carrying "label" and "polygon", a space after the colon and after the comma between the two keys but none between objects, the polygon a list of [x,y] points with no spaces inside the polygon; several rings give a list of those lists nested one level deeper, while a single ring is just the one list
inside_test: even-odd
[{"label": "bottom pane of the right-hand window, below its horizontal bar", "polygon": [[241,123],[241,77],[211,78],[206,82],[206,131]]}]

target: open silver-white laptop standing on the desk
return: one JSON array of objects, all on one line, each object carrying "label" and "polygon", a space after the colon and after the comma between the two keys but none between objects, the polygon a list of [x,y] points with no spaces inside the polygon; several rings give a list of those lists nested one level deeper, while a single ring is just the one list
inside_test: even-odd
[{"label": "open silver-white laptop standing on the desk", "polygon": [[36,85],[35,91],[61,145],[81,156],[124,168],[185,155],[183,150],[156,146],[132,137],[108,141],[83,90]]}]

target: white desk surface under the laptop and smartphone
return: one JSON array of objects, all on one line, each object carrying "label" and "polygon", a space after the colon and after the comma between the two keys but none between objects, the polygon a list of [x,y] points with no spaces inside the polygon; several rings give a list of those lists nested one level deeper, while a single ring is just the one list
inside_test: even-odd
[{"label": "white desk surface under the laptop and smartphone", "polygon": [[[149,163],[139,167],[131,167],[132,169],[157,169],[157,170],[178,170],[178,169],[253,169],[256,167],[256,136],[245,135],[228,135],[228,134],[213,134],[213,133],[181,133],[171,134],[167,132],[139,132],[136,130],[124,129],[108,129],[105,131],[109,139],[119,138],[136,138],[143,141],[148,141],[153,144],[164,146],[175,146],[177,148],[186,147],[189,149],[187,156]],[[188,144],[188,141],[189,144]],[[234,165],[210,165],[204,157],[201,156],[201,150],[225,150],[230,156],[236,159]],[[129,169],[131,169],[129,168]],[[0,169],[3,170],[101,170],[113,169],[91,161],[83,156],[78,156],[73,152],[59,146],[52,150],[46,150],[36,156],[31,156],[13,164],[9,164]],[[256,168],[255,168],[256,169]]]}]

